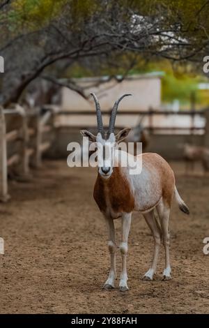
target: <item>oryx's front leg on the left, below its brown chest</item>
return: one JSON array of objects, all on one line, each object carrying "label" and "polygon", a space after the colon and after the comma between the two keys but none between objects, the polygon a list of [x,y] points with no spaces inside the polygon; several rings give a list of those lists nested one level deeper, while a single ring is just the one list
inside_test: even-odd
[{"label": "oryx's front leg on the left, below its brown chest", "polygon": [[110,270],[109,270],[109,276],[107,278],[107,281],[104,283],[104,289],[111,290],[114,288],[114,282],[117,278],[116,274],[116,236],[115,236],[115,227],[114,227],[114,221],[111,218],[106,218],[105,221],[107,223],[107,229],[109,232],[109,238],[108,238],[108,248],[110,253]]}]

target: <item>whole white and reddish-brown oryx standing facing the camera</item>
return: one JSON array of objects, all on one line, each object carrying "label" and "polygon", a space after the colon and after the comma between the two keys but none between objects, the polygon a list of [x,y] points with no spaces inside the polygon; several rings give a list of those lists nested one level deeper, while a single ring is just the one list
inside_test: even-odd
[{"label": "whole white and reddish-brown oryx standing facing the camera", "polygon": [[[98,122],[98,133],[82,130],[83,136],[88,137],[91,142],[95,142],[98,148],[98,177],[95,181],[93,197],[104,216],[108,230],[108,248],[110,253],[110,270],[104,289],[111,290],[115,286],[116,280],[116,244],[114,220],[121,218],[121,243],[119,249],[122,258],[122,270],[119,288],[122,292],[128,290],[127,287],[127,241],[130,232],[132,212],[141,213],[148,227],[150,228],[155,248],[153,260],[150,268],[144,275],[145,280],[153,280],[157,268],[157,260],[161,243],[165,252],[165,267],[162,274],[163,280],[171,279],[171,266],[169,258],[169,217],[171,202],[173,197],[178,202],[178,207],[185,214],[189,214],[189,209],[180,197],[175,183],[173,170],[160,155],[153,153],[139,154],[133,156],[126,151],[119,150],[117,144],[127,137],[130,128],[124,128],[117,134],[114,132],[118,105],[125,96],[121,96],[114,103],[109,119],[109,128],[104,130],[102,123],[102,113],[100,103],[95,94],[95,108]],[[124,156],[129,158],[127,165],[122,165]],[[132,174],[130,163],[136,161],[141,163],[141,172]],[[155,210],[159,216],[159,221],[155,216]],[[141,245],[143,247],[143,245]]]}]

